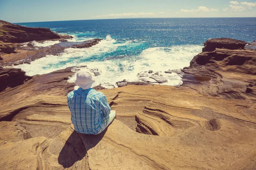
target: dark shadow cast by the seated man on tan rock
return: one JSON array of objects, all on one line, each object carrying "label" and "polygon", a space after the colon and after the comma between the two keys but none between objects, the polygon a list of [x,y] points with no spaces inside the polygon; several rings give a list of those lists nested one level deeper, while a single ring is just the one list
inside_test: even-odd
[{"label": "dark shadow cast by the seated man on tan rock", "polygon": [[87,150],[95,147],[101,141],[106,130],[99,135],[85,135],[74,130],[61,149],[58,156],[58,163],[64,168],[72,167],[73,164],[86,156]]}]

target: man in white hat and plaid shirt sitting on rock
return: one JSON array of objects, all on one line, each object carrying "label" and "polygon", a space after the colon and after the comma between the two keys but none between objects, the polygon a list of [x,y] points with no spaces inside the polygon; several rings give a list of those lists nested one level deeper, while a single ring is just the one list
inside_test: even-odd
[{"label": "man in white hat and plaid shirt sitting on rock", "polygon": [[75,82],[79,88],[67,95],[71,121],[79,133],[99,134],[116,117],[116,111],[111,111],[106,96],[91,88],[94,82],[89,70],[79,71]]}]

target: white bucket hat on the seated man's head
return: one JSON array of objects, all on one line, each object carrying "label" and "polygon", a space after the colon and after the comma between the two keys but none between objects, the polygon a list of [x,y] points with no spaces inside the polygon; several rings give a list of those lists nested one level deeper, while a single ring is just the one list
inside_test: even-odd
[{"label": "white bucket hat on the seated man's head", "polygon": [[91,88],[94,82],[94,76],[88,69],[80,70],[76,74],[75,84],[82,89]]}]

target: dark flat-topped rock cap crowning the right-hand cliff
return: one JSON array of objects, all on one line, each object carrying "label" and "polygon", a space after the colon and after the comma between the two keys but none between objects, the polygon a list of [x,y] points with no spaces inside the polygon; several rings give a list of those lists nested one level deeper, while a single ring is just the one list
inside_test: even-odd
[{"label": "dark flat-topped rock cap crowning the right-hand cliff", "polygon": [[247,44],[245,41],[235,40],[231,38],[215,38],[209,39],[204,43],[203,52],[214,51],[216,48],[227,48],[230,50],[244,49]]}]

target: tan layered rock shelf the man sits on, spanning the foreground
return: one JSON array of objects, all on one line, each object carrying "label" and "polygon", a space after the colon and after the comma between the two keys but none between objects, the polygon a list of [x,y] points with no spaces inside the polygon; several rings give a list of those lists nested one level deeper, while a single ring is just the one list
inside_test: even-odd
[{"label": "tan layered rock shelf the man sits on, spanning the foreground", "polygon": [[195,56],[180,87],[101,90],[118,119],[95,136],[76,133],[70,121],[66,95],[74,84],[67,79],[79,68],[6,88],[0,92],[0,167],[256,169],[256,51],[228,49],[228,42]]}]

